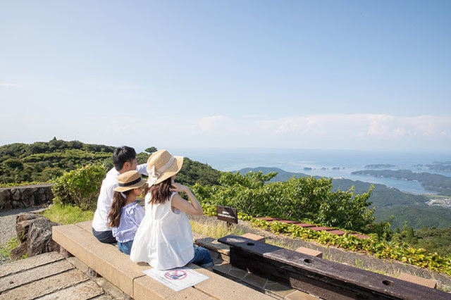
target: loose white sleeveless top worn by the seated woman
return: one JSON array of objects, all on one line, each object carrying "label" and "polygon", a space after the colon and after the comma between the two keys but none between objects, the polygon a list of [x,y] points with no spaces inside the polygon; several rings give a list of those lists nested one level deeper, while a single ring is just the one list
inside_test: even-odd
[{"label": "loose white sleeveless top worn by the seated woman", "polygon": [[182,267],[194,258],[190,221],[183,211],[171,203],[149,204],[150,193],[145,197],[146,215],[135,235],[130,251],[132,261],[145,261],[159,270]]}]

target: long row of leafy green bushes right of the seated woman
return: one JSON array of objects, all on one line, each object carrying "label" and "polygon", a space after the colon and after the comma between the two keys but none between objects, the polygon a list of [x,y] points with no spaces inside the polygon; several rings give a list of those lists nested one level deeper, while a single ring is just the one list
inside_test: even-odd
[{"label": "long row of leafy green bushes right of the seated woman", "polygon": [[223,173],[221,185],[200,185],[192,191],[202,204],[238,208],[255,217],[269,216],[286,220],[310,220],[330,227],[382,234],[385,224],[375,223],[368,207],[372,188],[363,194],[332,191],[331,180],[292,177],[285,182],[269,182],[276,173]]}]

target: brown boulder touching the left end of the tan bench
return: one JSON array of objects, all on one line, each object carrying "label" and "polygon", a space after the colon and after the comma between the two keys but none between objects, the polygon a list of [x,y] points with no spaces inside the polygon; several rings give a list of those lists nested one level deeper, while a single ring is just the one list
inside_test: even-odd
[{"label": "brown boulder touching the left end of the tan bench", "polygon": [[51,227],[61,225],[47,218],[37,218],[30,225],[27,235],[28,257],[50,251],[59,251],[59,245],[51,239]]}]

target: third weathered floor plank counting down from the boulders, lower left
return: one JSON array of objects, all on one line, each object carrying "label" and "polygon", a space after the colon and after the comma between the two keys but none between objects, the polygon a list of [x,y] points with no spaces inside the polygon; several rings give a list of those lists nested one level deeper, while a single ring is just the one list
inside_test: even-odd
[{"label": "third weathered floor plank counting down from the boulders, lower left", "polygon": [[89,280],[89,278],[85,274],[73,269],[42,280],[30,282],[27,285],[16,287],[16,289],[10,289],[8,292],[0,294],[0,300],[35,299],[86,280]]}]

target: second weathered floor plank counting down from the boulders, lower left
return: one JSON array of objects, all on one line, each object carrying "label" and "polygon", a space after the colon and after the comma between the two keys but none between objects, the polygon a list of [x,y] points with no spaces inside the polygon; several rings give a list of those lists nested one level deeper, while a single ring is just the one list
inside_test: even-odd
[{"label": "second weathered floor plank counting down from the boulders, lower left", "polygon": [[13,289],[19,287],[20,285],[25,285],[29,282],[40,280],[51,275],[63,273],[67,270],[73,269],[68,261],[56,261],[55,263],[49,263],[47,265],[41,265],[37,268],[32,268],[30,270],[25,270],[20,273],[15,273],[0,278],[0,293],[7,291],[8,289]]}]

